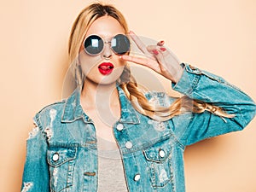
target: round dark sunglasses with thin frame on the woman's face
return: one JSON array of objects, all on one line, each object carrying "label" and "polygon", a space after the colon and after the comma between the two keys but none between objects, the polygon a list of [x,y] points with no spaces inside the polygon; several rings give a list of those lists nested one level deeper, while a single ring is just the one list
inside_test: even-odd
[{"label": "round dark sunglasses with thin frame on the woman's face", "polygon": [[124,55],[130,50],[130,40],[124,34],[114,36],[109,42],[98,35],[90,35],[84,40],[84,50],[88,55],[99,55],[102,53],[104,44],[110,44],[110,48],[116,55]]}]

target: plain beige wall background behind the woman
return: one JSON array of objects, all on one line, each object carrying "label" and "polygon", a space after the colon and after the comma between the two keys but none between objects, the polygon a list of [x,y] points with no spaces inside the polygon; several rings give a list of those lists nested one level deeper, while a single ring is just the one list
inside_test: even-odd
[{"label": "plain beige wall background behind the woman", "polygon": [[[0,191],[20,190],[26,137],[40,108],[61,99],[67,38],[90,1],[1,1]],[[256,99],[256,2],[115,0],[130,28],[165,39],[181,61],[236,84]],[[245,131],[185,152],[188,192],[255,192],[256,120]]]}]

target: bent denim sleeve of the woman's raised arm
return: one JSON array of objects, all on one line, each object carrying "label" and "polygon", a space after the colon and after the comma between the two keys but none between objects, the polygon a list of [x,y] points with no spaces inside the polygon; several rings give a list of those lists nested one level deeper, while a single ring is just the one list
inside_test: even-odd
[{"label": "bent denim sleeve of the woman's raised arm", "polygon": [[212,103],[236,116],[221,118],[207,111],[182,115],[178,122],[185,127],[183,131],[177,130],[181,143],[189,145],[230,131],[241,131],[253,119],[256,105],[244,92],[217,75],[187,64],[182,65],[183,76],[177,84],[172,84],[173,90],[190,98]]}]

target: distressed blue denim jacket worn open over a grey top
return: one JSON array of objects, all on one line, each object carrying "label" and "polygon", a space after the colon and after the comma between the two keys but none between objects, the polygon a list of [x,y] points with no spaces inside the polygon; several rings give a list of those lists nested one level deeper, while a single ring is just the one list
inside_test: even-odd
[{"label": "distressed blue denim jacket worn open over a grey top", "polygon": [[[159,122],[138,113],[118,87],[121,117],[113,134],[131,192],[184,192],[183,152],[187,145],[230,131],[241,131],[255,115],[252,99],[224,79],[184,65],[182,78],[172,88],[196,100],[224,108],[234,118],[213,113],[182,113]],[[161,92],[146,95],[169,106],[174,98]],[[96,128],[75,90],[62,102],[43,108],[27,140],[22,191],[96,192]]]}]

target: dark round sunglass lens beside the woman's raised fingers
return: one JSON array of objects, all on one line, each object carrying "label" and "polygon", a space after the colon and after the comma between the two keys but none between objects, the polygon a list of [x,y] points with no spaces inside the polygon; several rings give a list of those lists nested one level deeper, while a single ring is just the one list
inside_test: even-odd
[{"label": "dark round sunglass lens beside the woman's raised fingers", "polygon": [[124,55],[130,50],[130,41],[123,34],[118,34],[112,38],[111,47],[117,55]]}]

